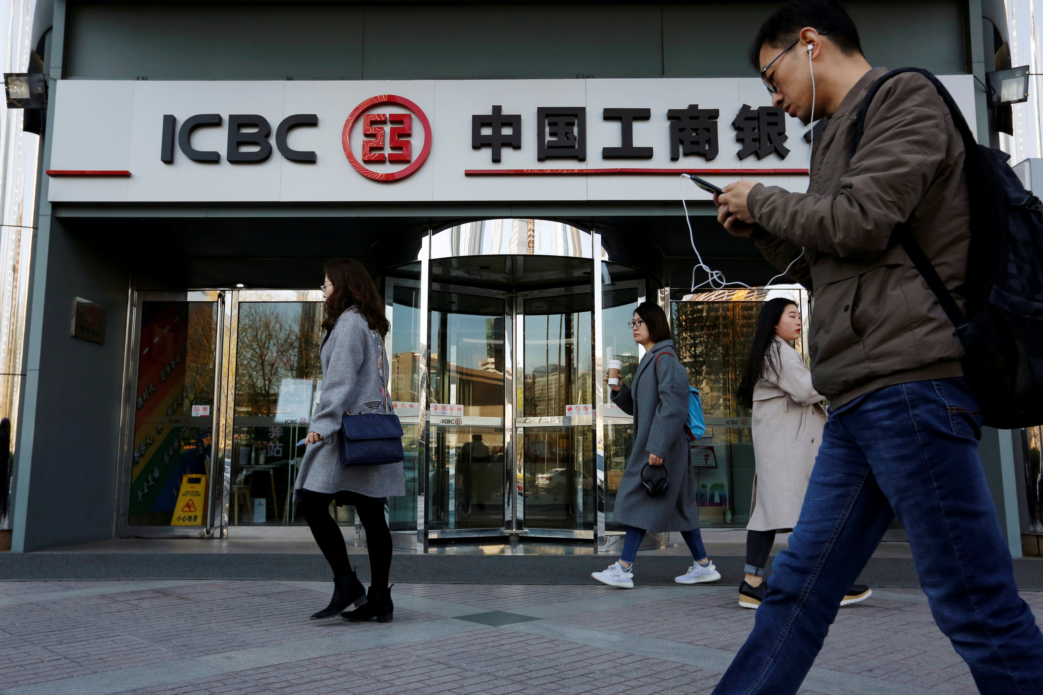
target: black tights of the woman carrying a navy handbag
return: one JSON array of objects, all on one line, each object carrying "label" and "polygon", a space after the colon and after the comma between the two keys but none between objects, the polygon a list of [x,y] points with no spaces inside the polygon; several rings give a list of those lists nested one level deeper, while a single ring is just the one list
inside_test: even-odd
[{"label": "black tights of the woman carrying a navy handbag", "polygon": [[391,531],[387,519],[384,518],[384,499],[366,497],[358,493],[339,492],[334,494],[296,491],[300,516],[308,522],[312,536],[319,550],[330,563],[335,577],[344,576],[351,571],[351,563],[347,560],[347,547],[340,526],[330,516],[330,502],[337,500],[338,504],[354,504],[355,513],[359,515],[366,529],[366,547],[369,549],[370,586],[386,589],[388,573],[391,571]]}]

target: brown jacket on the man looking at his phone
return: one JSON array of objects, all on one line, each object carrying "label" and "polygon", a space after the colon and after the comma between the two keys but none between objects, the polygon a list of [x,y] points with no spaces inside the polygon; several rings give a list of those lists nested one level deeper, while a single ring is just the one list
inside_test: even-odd
[{"label": "brown jacket on the man looking at his phone", "polygon": [[[945,102],[912,73],[880,88],[851,155],[853,119],[867,73],[816,143],[807,193],[757,184],[750,212],[765,256],[812,291],[811,380],[834,406],[880,387],[963,376],[963,349],[905,251],[889,249],[908,221],[950,291],[964,279],[970,207],[964,145]],[[963,304],[963,299],[956,295]]]}]

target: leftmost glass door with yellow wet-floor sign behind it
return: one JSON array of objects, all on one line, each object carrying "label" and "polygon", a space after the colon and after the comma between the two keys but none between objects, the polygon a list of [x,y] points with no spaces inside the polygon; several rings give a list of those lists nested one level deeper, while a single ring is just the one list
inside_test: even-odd
[{"label": "leftmost glass door with yellow wet-floor sign behind it", "polygon": [[213,530],[223,302],[216,291],[136,296],[125,368],[123,538]]}]

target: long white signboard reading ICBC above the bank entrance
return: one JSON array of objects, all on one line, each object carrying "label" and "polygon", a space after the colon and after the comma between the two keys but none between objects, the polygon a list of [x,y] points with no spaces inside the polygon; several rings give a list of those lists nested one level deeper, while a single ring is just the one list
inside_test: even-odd
[{"label": "long white signboard reading ICBC above the bank entrance", "polygon": [[[943,76],[974,130],[970,75]],[[806,189],[760,79],[59,80],[49,199],[705,200],[693,171]]]}]

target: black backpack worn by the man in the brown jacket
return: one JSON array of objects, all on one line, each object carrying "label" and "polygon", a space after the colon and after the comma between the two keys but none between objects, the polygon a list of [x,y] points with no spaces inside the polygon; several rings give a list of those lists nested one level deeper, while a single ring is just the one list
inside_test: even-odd
[{"label": "black backpack worn by the man in the brown jacket", "polygon": [[905,224],[895,226],[890,246],[901,244],[955,325],[966,352],[964,377],[981,404],[985,424],[1001,429],[1043,424],[1043,207],[1006,164],[1010,155],[978,145],[948,90],[920,68],[892,70],[869,88],[855,117],[852,152],[877,90],[907,72],[930,80],[964,139],[971,244],[967,276],[956,291],[967,299],[967,316]]}]

